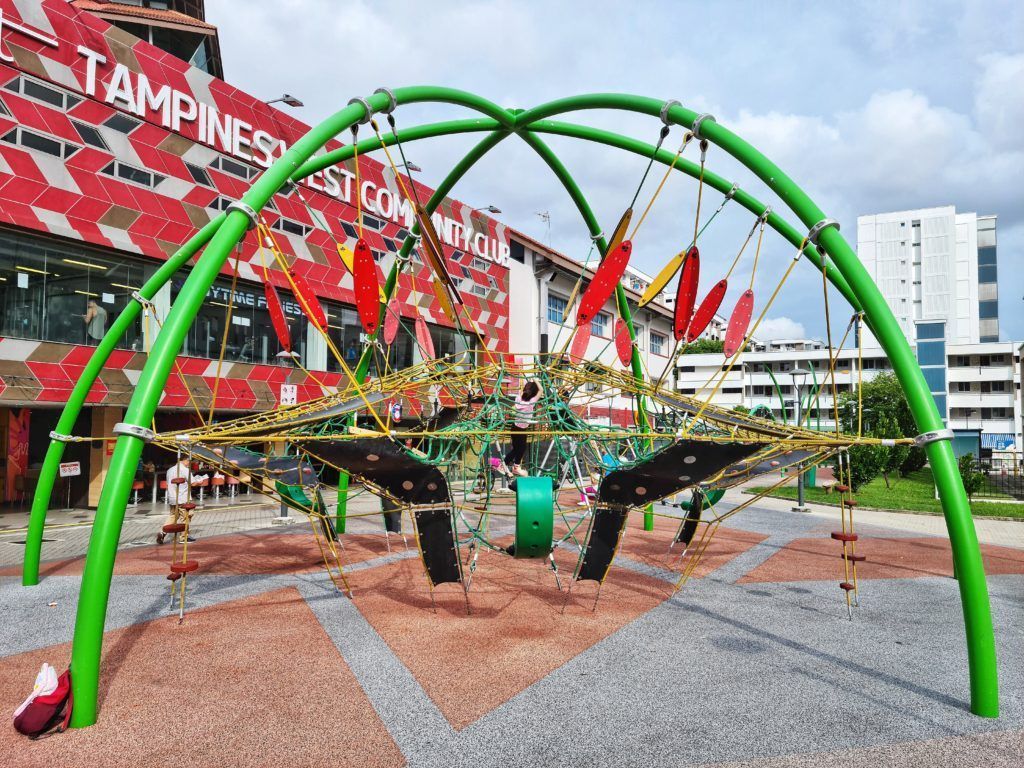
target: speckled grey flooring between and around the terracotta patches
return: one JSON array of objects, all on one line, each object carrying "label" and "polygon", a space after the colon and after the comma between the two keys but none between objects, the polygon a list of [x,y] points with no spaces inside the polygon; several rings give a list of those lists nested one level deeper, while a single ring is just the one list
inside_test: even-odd
[{"label": "speckled grey flooring between and around the terracotta patches", "polygon": [[[1024,577],[989,579],[1002,711],[984,720],[967,709],[953,580],[871,581],[854,622],[834,581],[737,584],[787,542],[829,525],[827,510],[783,509],[767,503],[740,512],[730,524],[765,534],[765,542],[461,731],[362,617],[358,598],[339,597],[322,573],[205,575],[189,599],[199,607],[296,586],[411,766],[1024,765]],[[213,522],[215,514],[224,517]],[[204,524],[269,527],[275,514],[211,510]],[[141,537],[158,522],[129,524]],[[860,530],[922,535],[916,520],[905,529],[872,521]],[[24,589],[0,580],[0,655],[70,640],[78,584],[53,577]],[[108,628],[163,615],[166,601],[162,578],[118,577]],[[42,607],[50,602],[55,607]]]}]

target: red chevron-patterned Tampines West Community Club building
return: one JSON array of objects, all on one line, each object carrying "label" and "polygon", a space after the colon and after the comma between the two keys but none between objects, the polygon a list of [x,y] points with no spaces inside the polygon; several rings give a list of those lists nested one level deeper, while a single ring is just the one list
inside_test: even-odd
[{"label": "red chevron-patterned Tampines West Community Club building", "polygon": [[[216,30],[202,19],[201,2],[160,5],[0,0],[0,440],[7,457],[0,496],[7,502],[31,499],[59,408],[132,293],[307,130],[215,77]],[[431,191],[421,186],[419,196]],[[287,262],[319,297],[334,346],[354,359],[361,328],[338,247],[352,247],[361,228],[387,269],[413,220],[393,172],[360,158],[357,184],[351,163],[332,167],[279,193],[262,215]],[[434,221],[483,343],[507,351],[506,227],[455,200]],[[181,350],[158,430],[187,427],[211,408],[227,416],[272,409],[283,397],[302,401],[342,380],[255,230],[236,256]],[[166,286],[120,340],[74,434],[110,435],[121,420],[185,276]],[[294,360],[271,330],[264,281],[282,296]],[[438,355],[479,343],[437,309],[425,270],[407,270],[397,295],[407,316],[419,306]],[[417,355],[403,334],[388,365],[411,365]],[[59,503],[70,489],[73,506],[94,506],[112,452],[113,440],[69,444],[66,461],[79,462],[81,474],[69,478]]]}]

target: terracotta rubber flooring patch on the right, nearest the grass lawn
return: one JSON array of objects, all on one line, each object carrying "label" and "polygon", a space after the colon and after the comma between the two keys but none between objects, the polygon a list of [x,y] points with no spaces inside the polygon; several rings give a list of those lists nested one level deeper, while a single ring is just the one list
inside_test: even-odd
[{"label": "terracotta rubber flooring patch on the right, nearest the grass lawn", "polygon": [[[858,555],[866,556],[857,564],[857,578],[916,579],[951,577],[952,554],[949,542],[934,537],[921,539],[861,538],[856,543]],[[749,582],[829,581],[843,575],[842,545],[823,536],[820,539],[797,539],[739,580]],[[1024,573],[1024,550],[981,545],[985,572]]]}]

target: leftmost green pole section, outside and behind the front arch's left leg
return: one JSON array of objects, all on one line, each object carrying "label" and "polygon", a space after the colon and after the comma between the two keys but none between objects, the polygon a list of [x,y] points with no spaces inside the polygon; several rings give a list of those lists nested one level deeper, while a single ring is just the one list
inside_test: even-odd
[{"label": "leftmost green pole section, outside and behind the front arch's left leg", "polygon": [[[145,282],[138,291],[139,297],[143,301],[152,301],[167,281],[184,266],[188,259],[195,256],[203,246],[210,242],[210,238],[220,228],[223,221],[224,214],[218,214],[196,232]],[[138,299],[132,299],[111,324],[111,328],[92,351],[89,361],[82,370],[78,381],[75,382],[75,387],[68,396],[68,402],[65,403],[54,432],[60,435],[70,435],[75,429],[75,422],[78,421],[78,417],[82,413],[85,400],[89,396],[89,390],[100,371],[103,370],[103,366],[106,365],[106,360],[110,359],[118,340],[131,328],[131,324],[135,322],[141,310],[142,303]],[[43,466],[39,470],[39,481],[36,483],[36,492],[32,497],[29,532],[25,538],[25,562],[22,566],[22,585],[25,587],[34,587],[39,584],[39,558],[43,546],[43,530],[46,527],[46,511],[53,495],[53,484],[56,482],[66,444],[63,440],[55,440],[51,437],[50,444],[46,449],[46,456],[43,459]]]}]

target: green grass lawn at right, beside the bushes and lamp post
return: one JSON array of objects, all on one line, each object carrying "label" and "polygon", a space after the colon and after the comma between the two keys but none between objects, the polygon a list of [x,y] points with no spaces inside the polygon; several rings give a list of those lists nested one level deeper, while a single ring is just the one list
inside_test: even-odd
[{"label": "green grass lawn at right, beside the bushes and lamp post", "polygon": [[[892,487],[886,487],[885,478],[880,476],[862,485],[855,495],[858,504],[861,507],[894,512],[942,514],[939,500],[935,498],[935,485],[929,467],[911,472],[906,477],[890,477],[889,482]],[[765,489],[762,487],[751,490]],[[776,499],[796,499],[797,486],[783,485],[767,496]],[[804,498],[809,502],[820,504],[839,504],[839,497],[835,493],[825,493],[824,488],[805,488]],[[1024,504],[976,501],[971,504],[971,511],[978,517],[1013,517],[1024,520]]]}]

